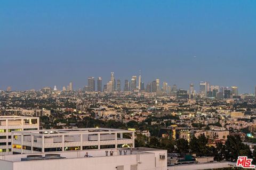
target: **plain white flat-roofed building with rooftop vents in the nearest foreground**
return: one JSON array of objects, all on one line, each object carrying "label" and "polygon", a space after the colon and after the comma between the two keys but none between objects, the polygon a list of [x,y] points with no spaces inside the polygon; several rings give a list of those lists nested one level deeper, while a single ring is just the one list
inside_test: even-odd
[{"label": "plain white flat-roofed building with rooftop vents in the nearest foreground", "polygon": [[167,170],[167,150],[123,148],[0,156],[0,170]]}]

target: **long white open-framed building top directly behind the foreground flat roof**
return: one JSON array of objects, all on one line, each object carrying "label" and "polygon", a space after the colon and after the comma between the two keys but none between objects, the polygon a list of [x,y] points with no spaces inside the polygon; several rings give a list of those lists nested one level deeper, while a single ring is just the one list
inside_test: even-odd
[{"label": "long white open-framed building top directly behind the foreground flat roof", "polygon": [[14,131],[13,154],[134,148],[134,131],[106,128]]}]

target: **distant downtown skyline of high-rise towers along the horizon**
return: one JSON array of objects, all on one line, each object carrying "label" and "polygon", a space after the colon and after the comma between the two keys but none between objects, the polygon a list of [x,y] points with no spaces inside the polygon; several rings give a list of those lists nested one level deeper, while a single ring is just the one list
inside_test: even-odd
[{"label": "distant downtown skyline of high-rise towers along the horizon", "polygon": [[[140,79],[140,80],[139,80]],[[125,90],[125,81],[129,82],[129,90],[126,89]],[[134,84],[133,84],[134,81]],[[143,83],[143,89],[141,89],[142,84],[139,84],[139,81],[141,81],[141,83]],[[160,89],[163,90],[163,92],[167,91],[168,88],[173,88],[173,86],[175,86],[177,89],[181,89],[181,90],[187,90],[188,93],[191,93],[191,84],[193,84],[193,89],[198,92],[198,94],[201,94],[201,83],[206,83],[203,86],[206,86],[208,89],[204,90],[204,92],[210,91],[210,87],[215,88],[218,87],[219,89],[221,88],[228,88],[230,90],[232,90],[234,87],[239,89],[239,94],[255,94],[255,90],[256,90],[256,86],[253,87],[253,91],[251,92],[241,92],[240,88],[238,86],[236,86],[236,84],[228,84],[227,86],[223,85],[223,84],[215,84],[215,83],[211,83],[209,81],[199,81],[199,82],[190,82],[188,83],[187,87],[183,88],[181,86],[178,85],[178,83],[169,83],[166,82],[165,80],[161,80],[161,79],[152,79],[151,81],[147,81],[145,82],[143,80],[143,77],[141,76],[141,70],[139,70],[139,74],[138,75],[132,75],[130,78],[127,79],[120,79],[120,78],[116,78],[114,75],[114,72],[111,72],[111,76],[109,76],[109,78],[106,78],[105,80],[103,80],[102,77],[87,77],[85,79],[85,84],[82,86],[75,86],[75,88],[73,88],[73,81],[69,81],[66,84],[49,84],[49,85],[45,85],[45,86],[41,86],[38,89],[36,88],[32,88],[35,90],[41,90],[44,87],[50,87],[52,89],[56,90],[60,90],[60,91],[73,91],[73,90],[85,90],[85,91],[104,91],[104,86],[107,87],[107,84],[109,82],[111,82],[111,91],[133,91],[135,89],[137,90],[145,90],[147,91],[147,84],[150,84],[150,88],[152,86],[152,83],[154,83],[155,81],[158,81],[158,85]],[[114,82],[114,83],[112,83]],[[119,83],[119,87],[117,87],[117,83]],[[166,86],[166,87],[165,87]],[[71,87],[71,88],[70,88]],[[87,89],[84,89],[87,88]],[[120,88],[120,90],[118,90]],[[0,89],[0,90],[7,90],[7,91],[26,91],[26,90],[32,90],[32,89],[22,89],[22,90],[17,90],[17,89],[13,89],[11,86],[6,87],[6,89]],[[100,89],[100,90],[99,90]],[[236,89],[236,90],[238,90]],[[193,90],[193,91],[194,91]],[[220,90],[219,90],[220,91]],[[156,92],[156,91],[152,91],[152,92]],[[238,92],[237,92],[238,93]]]}]

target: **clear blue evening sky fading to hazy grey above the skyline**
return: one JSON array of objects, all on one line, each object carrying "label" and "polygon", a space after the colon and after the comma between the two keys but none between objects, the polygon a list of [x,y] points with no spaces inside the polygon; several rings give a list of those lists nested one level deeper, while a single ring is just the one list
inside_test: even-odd
[{"label": "clear blue evening sky fading to hazy grey above the skyline", "polygon": [[256,1],[0,0],[0,89],[87,77],[256,85]]}]

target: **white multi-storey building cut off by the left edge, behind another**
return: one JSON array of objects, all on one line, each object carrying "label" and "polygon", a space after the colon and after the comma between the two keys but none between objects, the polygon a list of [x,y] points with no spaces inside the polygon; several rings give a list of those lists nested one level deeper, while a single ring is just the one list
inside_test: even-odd
[{"label": "white multi-storey building cut off by the left edge, behind another", "polygon": [[39,117],[0,116],[0,155],[12,153],[11,132],[26,130],[39,130]]}]

